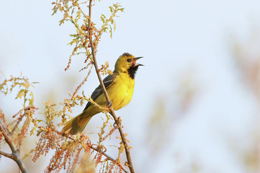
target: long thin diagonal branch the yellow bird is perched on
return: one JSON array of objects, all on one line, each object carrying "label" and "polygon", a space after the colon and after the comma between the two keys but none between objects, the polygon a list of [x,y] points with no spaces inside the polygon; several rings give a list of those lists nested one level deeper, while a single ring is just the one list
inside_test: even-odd
[{"label": "long thin diagonal branch the yellow bird is perched on", "polygon": [[[89,20],[88,20],[88,27],[89,27],[89,29],[90,29],[90,26],[91,26],[91,2],[92,2],[92,0],[89,1]],[[90,46],[91,46],[92,57],[93,57],[93,61],[94,61],[94,62],[93,62],[93,63],[94,63],[94,67],[95,67],[95,69],[96,69],[96,74],[97,74],[97,76],[98,76],[98,78],[99,78],[99,83],[100,83],[100,85],[101,85],[101,87],[102,87],[103,93],[104,93],[104,95],[105,95],[105,97],[106,97],[107,104],[108,104],[110,100],[109,100],[107,91],[106,91],[106,89],[105,89],[105,86],[104,86],[104,84],[103,84],[101,75],[100,75],[100,73],[99,73],[99,68],[98,68],[98,65],[97,65],[97,62],[96,62],[96,55],[95,55],[94,44],[93,44],[93,41],[92,41],[91,32],[89,32],[89,36],[90,36],[90,37],[89,37],[89,38],[90,38]],[[123,144],[124,144],[124,146],[125,146],[125,153],[126,153],[127,162],[128,162],[128,163],[127,163],[127,164],[128,164],[127,166],[129,167],[130,172],[131,172],[131,173],[134,173],[135,171],[134,171],[134,169],[133,169],[133,164],[132,164],[131,157],[130,157],[129,147],[128,147],[128,145],[127,145],[127,140],[125,139],[125,135],[124,135],[124,132],[123,132],[123,130],[122,130],[122,126],[120,126],[120,125],[118,124],[117,117],[116,117],[116,114],[115,114],[115,112],[114,112],[113,107],[110,106],[109,109],[110,109],[111,115],[113,116],[115,122],[116,122],[117,125],[119,126],[118,130],[119,130],[120,136],[121,136],[121,138],[122,138],[122,142],[123,142]]]}]

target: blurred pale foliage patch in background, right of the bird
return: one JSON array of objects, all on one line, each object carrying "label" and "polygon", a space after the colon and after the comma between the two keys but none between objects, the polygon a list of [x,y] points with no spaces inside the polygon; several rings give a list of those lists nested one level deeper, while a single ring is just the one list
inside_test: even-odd
[{"label": "blurred pale foliage patch in background, right of the bird", "polygon": [[[169,79],[169,81],[173,82],[172,79]],[[193,68],[185,69],[179,74],[178,80],[174,80],[174,83],[176,83],[176,87],[167,90],[167,94],[161,93],[155,96],[147,121],[145,149],[148,153],[147,158],[158,158],[165,151],[171,153],[173,162],[176,162],[174,164],[178,165],[178,162],[183,159],[183,153],[172,153],[174,132],[178,124],[184,121],[187,112],[198,99],[200,85],[196,80],[196,73]],[[183,167],[180,166],[177,172],[200,172],[200,167],[198,161],[195,160]]]}]

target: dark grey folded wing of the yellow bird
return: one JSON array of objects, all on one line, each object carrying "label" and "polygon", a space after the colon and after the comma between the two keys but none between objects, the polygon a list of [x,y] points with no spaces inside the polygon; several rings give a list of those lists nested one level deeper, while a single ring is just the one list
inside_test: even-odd
[{"label": "dark grey folded wing of the yellow bird", "polygon": [[[107,77],[105,77],[105,78],[103,79],[103,83],[104,83],[105,88],[107,88],[107,87],[109,87],[110,85],[112,85],[112,83],[115,82],[117,76],[118,76],[118,73],[114,73],[113,75],[110,75],[110,74],[109,74]],[[90,97],[91,97],[93,100],[95,100],[101,93],[103,93],[103,90],[102,90],[101,85],[99,84],[99,86],[96,87],[96,89],[93,91],[93,93],[91,94]],[[84,110],[86,110],[90,104],[91,104],[91,103],[88,102]],[[84,111],[84,110],[83,110],[83,111]]]}]

